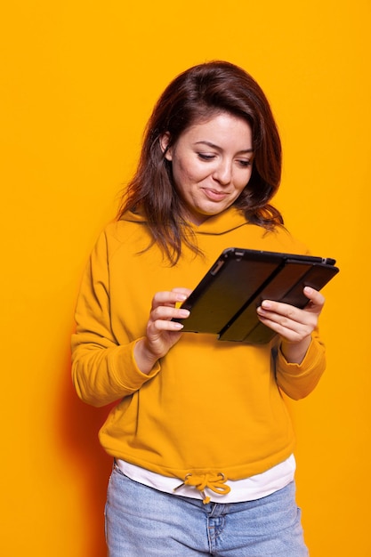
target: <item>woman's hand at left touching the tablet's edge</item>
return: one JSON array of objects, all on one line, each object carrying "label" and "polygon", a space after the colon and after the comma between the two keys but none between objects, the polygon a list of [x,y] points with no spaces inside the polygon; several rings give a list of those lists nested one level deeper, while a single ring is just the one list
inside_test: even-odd
[{"label": "woman's hand at left touching the tablet's edge", "polygon": [[190,293],[189,288],[173,288],[171,292],[157,292],[153,296],[147,334],[134,347],[134,358],[142,373],[149,374],[157,359],[163,358],[181,338],[183,326],[172,319],[190,315],[190,311],[176,307]]}]

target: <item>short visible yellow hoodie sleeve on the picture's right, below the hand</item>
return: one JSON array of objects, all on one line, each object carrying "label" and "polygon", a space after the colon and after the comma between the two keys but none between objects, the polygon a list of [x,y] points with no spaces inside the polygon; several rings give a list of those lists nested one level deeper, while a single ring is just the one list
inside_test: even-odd
[{"label": "short visible yellow hoodie sleeve on the picture's right, below the hand", "polygon": [[278,348],[276,377],[279,388],[294,400],[308,396],[319,383],[326,368],[326,354],[318,332],[312,334],[311,344],[302,363],[293,364],[286,361]]}]

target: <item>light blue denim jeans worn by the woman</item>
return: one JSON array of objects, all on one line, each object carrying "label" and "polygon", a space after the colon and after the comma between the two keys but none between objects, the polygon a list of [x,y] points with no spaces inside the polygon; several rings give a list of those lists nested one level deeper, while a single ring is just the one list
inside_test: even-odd
[{"label": "light blue denim jeans worn by the woman", "polygon": [[294,482],[246,503],[162,493],[114,466],[106,504],[109,557],[308,557]]}]

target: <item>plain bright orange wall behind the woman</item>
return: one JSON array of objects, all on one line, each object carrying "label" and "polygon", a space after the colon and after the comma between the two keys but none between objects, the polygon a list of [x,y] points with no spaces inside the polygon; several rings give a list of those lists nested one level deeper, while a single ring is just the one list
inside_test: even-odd
[{"label": "plain bright orange wall behind the woman", "polygon": [[158,94],[221,58],[270,98],[287,226],[341,267],[322,318],[327,374],[290,403],[311,557],[370,555],[369,0],[13,0],[2,12],[0,553],[105,554],[107,409],[70,384],[78,284]]}]

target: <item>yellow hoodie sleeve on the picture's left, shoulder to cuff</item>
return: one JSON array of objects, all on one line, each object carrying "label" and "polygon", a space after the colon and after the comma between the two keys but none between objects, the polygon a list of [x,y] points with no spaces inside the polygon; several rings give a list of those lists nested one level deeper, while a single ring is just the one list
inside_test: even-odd
[{"label": "yellow hoodie sleeve on the picture's left, shoulder to cuff", "polygon": [[119,344],[112,331],[109,300],[109,248],[101,234],[85,269],[72,335],[72,381],[81,400],[100,407],[133,394],[159,371],[141,373],[133,357],[137,342]]}]

